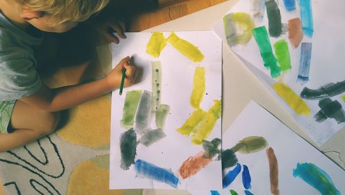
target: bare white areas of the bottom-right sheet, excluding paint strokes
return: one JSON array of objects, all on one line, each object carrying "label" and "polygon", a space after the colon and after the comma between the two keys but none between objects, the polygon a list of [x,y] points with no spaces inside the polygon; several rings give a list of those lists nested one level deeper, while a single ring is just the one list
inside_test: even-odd
[{"label": "bare white areas of the bottom-right sheet, excluding paint strokes", "polygon": [[[280,194],[319,194],[317,189],[305,183],[301,178],[293,176],[293,169],[296,169],[297,163],[313,163],[326,171],[336,189],[341,194],[345,193],[345,171],[253,101],[246,106],[223,134],[222,148],[223,150],[230,149],[239,140],[249,136],[262,136],[268,142],[268,147],[273,148],[279,166]],[[253,194],[271,194],[266,150],[253,154],[240,154],[239,152],[235,154],[239,160],[238,163],[248,166],[251,177],[251,188],[248,191]],[[224,174],[232,169],[234,167],[226,169]],[[220,194],[230,194],[229,190],[234,189],[238,194],[244,194],[242,171],[226,189],[217,191]],[[198,195],[210,194],[209,191],[190,192]]]}]

